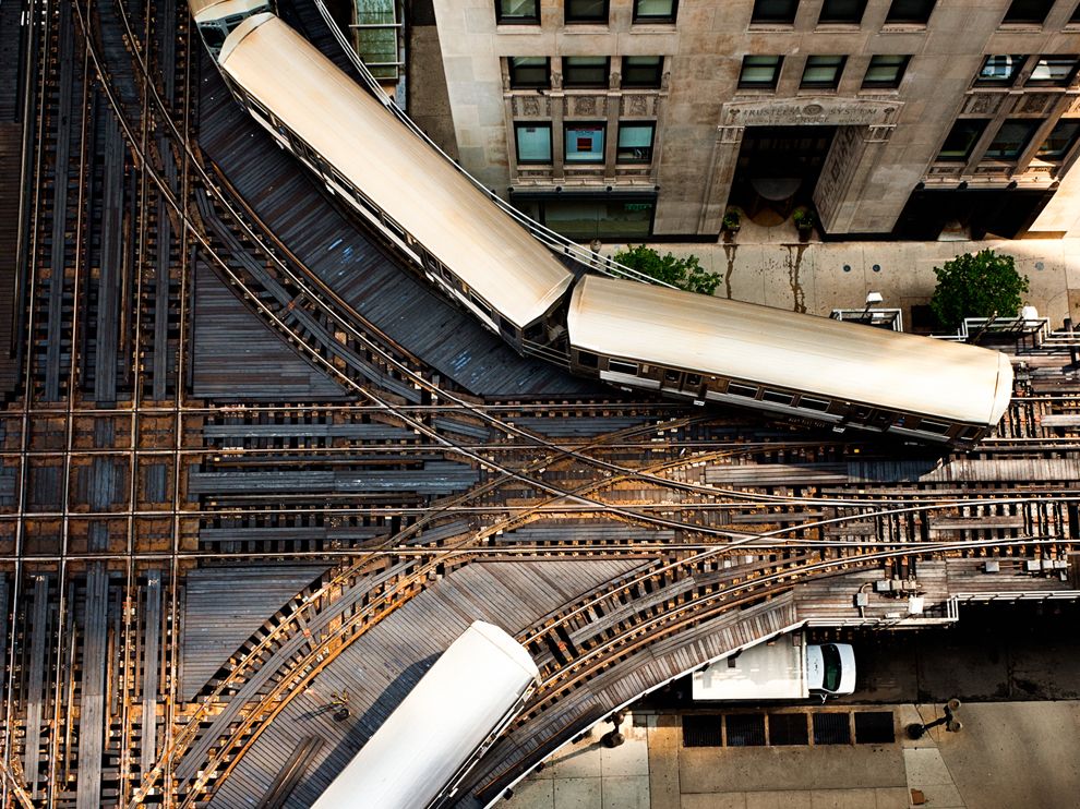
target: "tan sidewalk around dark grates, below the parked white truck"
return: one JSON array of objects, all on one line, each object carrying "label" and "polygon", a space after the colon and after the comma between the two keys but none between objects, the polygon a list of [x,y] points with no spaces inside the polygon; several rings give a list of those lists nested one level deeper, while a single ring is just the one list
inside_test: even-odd
[{"label": "tan sidewalk around dark grates, below the parked white truck", "polygon": [[[850,707],[855,710],[859,707]],[[890,710],[887,705],[866,710]],[[748,709],[742,709],[746,711]],[[940,705],[893,705],[892,744],[684,747],[677,714],[627,716],[626,741],[598,725],[560,750],[500,809],[1072,809],[1080,795],[1080,702],[974,703],[960,733],[932,729]]]}]

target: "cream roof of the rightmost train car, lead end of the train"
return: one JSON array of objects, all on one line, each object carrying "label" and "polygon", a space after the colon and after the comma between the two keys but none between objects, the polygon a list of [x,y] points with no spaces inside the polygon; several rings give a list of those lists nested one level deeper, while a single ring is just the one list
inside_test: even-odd
[{"label": "cream roof of the rightmost train car, lead end of the train", "polygon": [[997,351],[612,278],[578,281],[567,328],[598,354],[969,423],[1012,394]]}]

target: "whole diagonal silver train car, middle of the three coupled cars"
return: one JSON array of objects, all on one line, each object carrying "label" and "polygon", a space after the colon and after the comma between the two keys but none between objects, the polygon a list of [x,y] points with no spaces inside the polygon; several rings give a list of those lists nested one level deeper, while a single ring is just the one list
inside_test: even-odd
[{"label": "whole diagonal silver train car, middle of the three coupled cars", "polygon": [[432,283],[519,350],[549,341],[574,276],[303,37],[255,14],[218,64],[277,143]]}]

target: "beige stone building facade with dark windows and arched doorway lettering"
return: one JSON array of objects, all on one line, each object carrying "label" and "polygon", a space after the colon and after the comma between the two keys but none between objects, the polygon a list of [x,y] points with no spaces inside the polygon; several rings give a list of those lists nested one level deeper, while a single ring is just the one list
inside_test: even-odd
[{"label": "beige stone building facade with dark windows and arched doorway lettering", "polygon": [[461,165],[583,240],[801,203],[837,237],[1080,234],[1080,0],[432,8]]}]

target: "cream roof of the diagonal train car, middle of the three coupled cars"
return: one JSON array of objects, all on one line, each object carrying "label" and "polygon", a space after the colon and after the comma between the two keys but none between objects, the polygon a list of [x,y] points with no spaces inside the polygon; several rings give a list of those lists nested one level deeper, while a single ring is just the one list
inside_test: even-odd
[{"label": "cream roof of the diagonal train car, middle of the three coupled cars", "polygon": [[569,287],[573,275],[528,231],[276,16],[239,25],[220,63],[515,325]]}]

